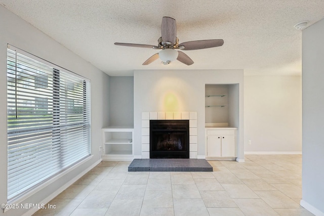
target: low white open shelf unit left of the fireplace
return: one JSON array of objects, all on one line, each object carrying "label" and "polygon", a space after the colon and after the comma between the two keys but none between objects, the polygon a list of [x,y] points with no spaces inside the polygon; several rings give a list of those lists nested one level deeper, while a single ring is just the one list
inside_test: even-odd
[{"label": "low white open shelf unit left of the fireplace", "polygon": [[109,126],[102,128],[103,160],[134,159],[134,128]]}]

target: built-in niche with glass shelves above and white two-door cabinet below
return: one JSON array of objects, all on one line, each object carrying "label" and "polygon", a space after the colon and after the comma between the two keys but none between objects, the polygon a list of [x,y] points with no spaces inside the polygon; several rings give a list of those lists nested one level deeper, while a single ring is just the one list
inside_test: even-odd
[{"label": "built-in niche with glass shelves above and white two-door cabinet below", "polygon": [[206,159],[236,159],[238,84],[205,85]]}]

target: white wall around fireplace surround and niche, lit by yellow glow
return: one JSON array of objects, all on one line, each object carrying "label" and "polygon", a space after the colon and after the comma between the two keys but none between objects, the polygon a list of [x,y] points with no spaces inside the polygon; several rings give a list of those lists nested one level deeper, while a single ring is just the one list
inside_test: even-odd
[{"label": "white wall around fireplace surround and niche, lit by yellow glow", "polygon": [[239,85],[238,158],[244,159],[243,70],[135,70],[135,155],[141,155],[142,112],[149,111],[197,112],[198,156],[205,155],[205,84],[231,83]]}]

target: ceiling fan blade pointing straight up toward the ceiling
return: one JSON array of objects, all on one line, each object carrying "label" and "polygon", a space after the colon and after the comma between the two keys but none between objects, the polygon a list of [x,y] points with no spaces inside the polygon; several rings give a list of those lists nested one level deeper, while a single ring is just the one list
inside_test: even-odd
[{"label": "ceiling fan blade pointing straight up toward the ceiling", "polygon": [[161,33],[163,41],[170,41],[173,45],[175,45],[177,40],[176,20],[171,17],[163,17]]}]

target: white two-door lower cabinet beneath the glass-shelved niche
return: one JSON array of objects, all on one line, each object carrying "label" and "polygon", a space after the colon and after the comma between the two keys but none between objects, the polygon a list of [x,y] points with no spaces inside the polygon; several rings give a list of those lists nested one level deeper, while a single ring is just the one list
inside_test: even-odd
[{"label": "white two-door lower cabinet beneath the glass-shelved niche", "polygon": [[206,158],[236,157],[236,130],[234,127],[206,128]]}]

